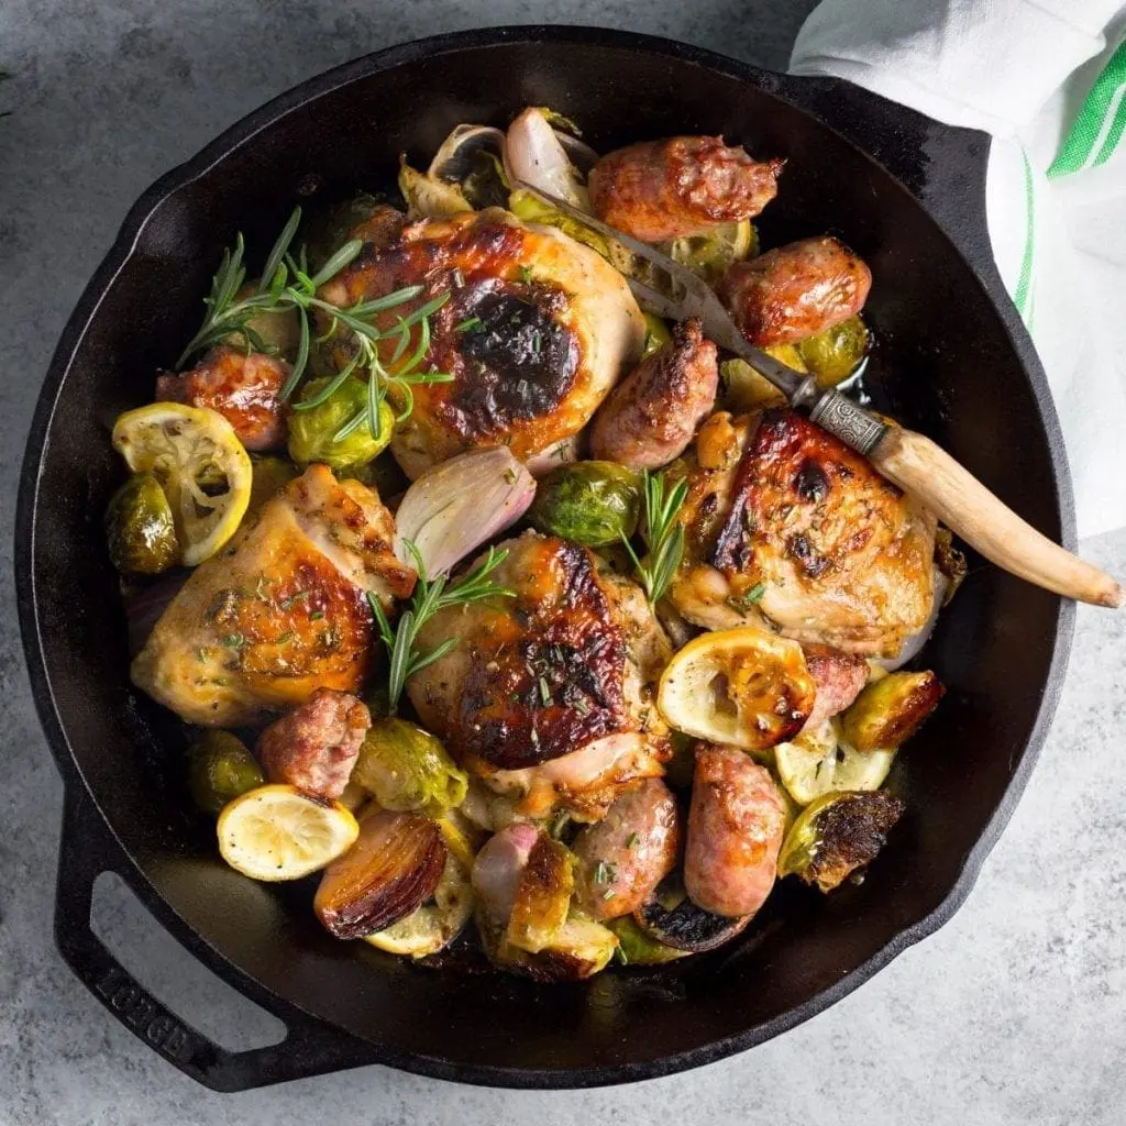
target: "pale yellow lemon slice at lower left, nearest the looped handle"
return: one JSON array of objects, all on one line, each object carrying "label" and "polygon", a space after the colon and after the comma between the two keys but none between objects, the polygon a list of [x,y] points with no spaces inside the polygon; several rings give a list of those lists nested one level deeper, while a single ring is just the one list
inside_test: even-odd
[{"label": "pale yellow lemon slice at lower left, nearest the looped handle", "polygon": [[342,856],[359,825],[339,802],[306,797],[296,786],[259,786],[223,806],[218,850],[251,879],[301,879]]}]

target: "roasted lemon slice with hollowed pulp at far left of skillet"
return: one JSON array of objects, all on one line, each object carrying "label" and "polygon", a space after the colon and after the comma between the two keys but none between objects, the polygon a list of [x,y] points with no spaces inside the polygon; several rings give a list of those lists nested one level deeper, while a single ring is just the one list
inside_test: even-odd
[{"label": "roasted lemon slice with hollowed pulp at far left of skillet", "polygon": [[222,414],[182,403],[126,411],[114,425],[114,448],[134,473],[160,482],[184,563],[211,558],[234,535],[250,503],[253,471]]}]

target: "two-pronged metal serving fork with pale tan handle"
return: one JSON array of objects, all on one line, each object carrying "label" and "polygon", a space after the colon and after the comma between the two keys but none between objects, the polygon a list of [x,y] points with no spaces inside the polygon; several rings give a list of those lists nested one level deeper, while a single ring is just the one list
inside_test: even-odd
[{"label": "two-pronged metal serving fork with pale tan handle", "polygon": [[656,285],[629,278],[629,288],[643,305],[674,321],[698,318],[708,339],[750,364],[792,406],[806,411],[817,426],[867,457],[888,481],[918,497],[985,558],[1065,598],[1121,606],[1123,588],[1117,580],[1037,531],[930,438],[878,418],[841,392],[821,387],[812,375],[795,372],[756,348],[712,287],[691,270],[564,199],[529,184],[516,186],[649,262],[659,274],[647,276],[649,280]]}]

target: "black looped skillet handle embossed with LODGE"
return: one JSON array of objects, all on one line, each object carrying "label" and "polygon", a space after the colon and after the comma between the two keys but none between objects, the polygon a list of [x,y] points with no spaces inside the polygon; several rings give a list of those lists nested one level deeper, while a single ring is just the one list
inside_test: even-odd
[{"label": "black looped skillet handle embossed with LODGE", "polygon": [[[66,787],[55,895],[55,945],[74,975],[129,1031],[173,1067],[213,1091],[245,1091],[373,1062],[370,1047],[297,1010],[277,1013],[278,1044],[229,1052],[157,1000],[90,926],[93,884],[104,872],[128,879],[129,863],[81,785]],[[253,998],[258,1001],[258,998]]]}]

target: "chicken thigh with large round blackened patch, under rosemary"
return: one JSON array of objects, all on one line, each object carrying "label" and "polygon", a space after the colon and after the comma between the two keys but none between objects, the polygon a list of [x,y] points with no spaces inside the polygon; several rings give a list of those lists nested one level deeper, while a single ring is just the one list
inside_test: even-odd
[{"label": "chicken thigh with large round blackened patch, under rosemary", "polygon": [[[500,209],[422,220],[366,244],[322,296],[350,305],[408,285],[425,292],[379,323],[394,328],[396,314],[449,293],[430,318],[423,367],[454,376],[414,387],[413,414],[392,439],[412,479],[500,445],[533,472],[549,467],[641,352],[644,324],[622,275],[561,232]],[[394,346],[386,341],[388,364]]]}]

